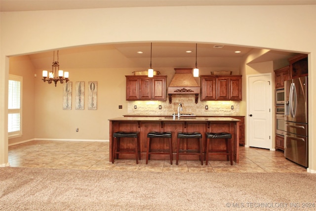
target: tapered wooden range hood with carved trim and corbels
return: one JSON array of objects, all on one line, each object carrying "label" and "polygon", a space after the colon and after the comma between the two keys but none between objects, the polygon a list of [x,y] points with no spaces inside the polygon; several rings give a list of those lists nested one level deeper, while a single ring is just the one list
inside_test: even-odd
[{"label": "tapered wooden range hood with carved trim and corbels", "polygon": [[200,86],[192,74],[192,68],[174,68],[175,74],[168,86],[169,103],[172,102],[172,94],[195,94],[197,103]]}]

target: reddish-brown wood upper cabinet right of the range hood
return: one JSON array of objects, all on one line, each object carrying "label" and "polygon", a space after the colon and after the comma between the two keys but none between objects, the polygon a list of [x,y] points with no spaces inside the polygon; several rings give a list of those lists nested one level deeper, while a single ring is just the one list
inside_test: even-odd
[{"label": "reddish-brown wood upper cabinet right of the range hood", "polygon": [[241,76],[200,76],[201,101],[241,100]]}]

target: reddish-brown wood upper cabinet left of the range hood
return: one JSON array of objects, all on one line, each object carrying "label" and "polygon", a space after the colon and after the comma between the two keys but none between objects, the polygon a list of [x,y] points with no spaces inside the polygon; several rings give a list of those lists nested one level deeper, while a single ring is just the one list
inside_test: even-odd
[{"label": "reddish-brown wood upper cabinet left of the range hood", "polygon": [[125,76],[126,100],[166,100],[166,76]]}]

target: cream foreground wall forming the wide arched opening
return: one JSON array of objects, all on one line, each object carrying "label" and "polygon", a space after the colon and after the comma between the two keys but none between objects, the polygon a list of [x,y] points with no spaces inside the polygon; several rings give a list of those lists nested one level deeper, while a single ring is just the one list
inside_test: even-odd
[{"label": "cream foreground wall forming the wide arched opening", "polygon": [[[313,96],[316,88],[312,83],[316,81],[315,10],[315,5],[282,5],[1,12],[0,115],[4,118],[0,120],[0,165],[7,164],[5,93],[9,67],[5,56],[95,43],[151,41],[212,42],[312,52],[309,55],[312,108],[316,103]],[[52,26],[58,28],[54,30]],[[309,117],[310,169],[316,171],[313,141],[316,114],[310,112]]]}]

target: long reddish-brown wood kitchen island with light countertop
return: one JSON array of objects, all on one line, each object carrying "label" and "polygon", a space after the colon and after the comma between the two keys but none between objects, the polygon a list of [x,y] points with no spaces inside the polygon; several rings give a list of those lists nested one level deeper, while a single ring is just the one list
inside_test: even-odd
[{"label": "long reddish-brown wood kitchen island with light countertop", "polygon": [[[116,131],[139,131],[140,132],[140,151],[141,159],[146,158],[147,133],[150,131],[171,131],[172,132],[172,152],[176,153],[177,132],[200,132],[203,136],[203,154],[205,158],[206,137],[205,132],[229,132],[232,134],[233,157],[236,163],[239,162],[239,121],[230,117],[181,117],[174,119],[172,117],[118,117],[110,119],[110,156],[112,158],[113,133]],[[185,141],[184,148],[198,149],[197,143]],[[161,138],[153,142],[152,150],[168,149],[168,139]],[[122,149],[133,148],[133,142],[123,140],[120,147]],[[211,149],[225,149],[225,141],[214,139]],[[120,155],[120,159],[134,159],[133,155]],[[151,160],[168,160],[168,155],[152,155]],[[180,160],[198,160],[198,156],[181,155]],[[209,160],[226,160],[226,156],[214,155]]]}]

